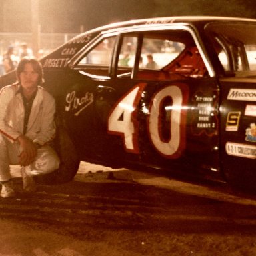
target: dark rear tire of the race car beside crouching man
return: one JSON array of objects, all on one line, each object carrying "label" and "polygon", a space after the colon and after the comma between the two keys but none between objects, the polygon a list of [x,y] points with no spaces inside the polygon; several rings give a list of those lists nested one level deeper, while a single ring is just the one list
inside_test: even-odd
[{"label": "dark rear tire of the race car beside crouching man", "polygon": [[59,169],[45,175],[36,177],[37,182],[54,185],[67,183],[73,179],[79,169],[79,157],[77,150],[71,141],[67,131],[57,123],[57,133],[52,144],[53,149],[59,155],[61,163]]}]

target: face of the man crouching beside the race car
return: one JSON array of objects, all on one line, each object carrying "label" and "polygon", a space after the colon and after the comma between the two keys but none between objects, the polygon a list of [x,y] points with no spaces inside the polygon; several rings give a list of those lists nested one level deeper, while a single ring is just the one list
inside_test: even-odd
[{"label": "face of the man crouching beside the race car", "polygon": [[19,75],[21,86],[25,90],[35,89],[38,85],[39,74],[34,71],[31,63],[25,64],[24,70]]}]

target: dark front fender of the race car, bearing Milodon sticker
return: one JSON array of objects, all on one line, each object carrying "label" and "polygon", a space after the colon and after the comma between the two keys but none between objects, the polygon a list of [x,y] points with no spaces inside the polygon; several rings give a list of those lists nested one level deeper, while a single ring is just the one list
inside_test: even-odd
[{"label": "dark front fender of the race car, bearing Milodon sticker", "polygon": [[255,79],[223,78],[220,85],[222,167],[236,186],[252,188],[256,178]]}]

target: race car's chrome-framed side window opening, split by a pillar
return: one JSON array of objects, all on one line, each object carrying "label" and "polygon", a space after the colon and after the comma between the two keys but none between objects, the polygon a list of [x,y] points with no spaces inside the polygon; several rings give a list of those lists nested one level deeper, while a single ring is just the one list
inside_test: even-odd
[{"label": "race car's chrome-framed side window opening, split by a pillar", "polygon": [[[139,37],[143,38],[141,43]],[[93,75],[109,76],[116,38],[102,39],[79,61],[77,67]],[[115,68],[118,78],[167,80],[177,75],[207,76],[203,59],[187,31],[127,34],[120,43]]]}]

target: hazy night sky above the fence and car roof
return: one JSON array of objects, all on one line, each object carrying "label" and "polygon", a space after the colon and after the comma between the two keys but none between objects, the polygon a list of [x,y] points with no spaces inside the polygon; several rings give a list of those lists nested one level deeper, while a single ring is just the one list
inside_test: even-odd
[{"label": "hazy night sky above the fence and car roof", "polygon": [[256,18],[255,0],[0,0],[0,32],[30,32],[31,1],[38,1],[45,33],[79,33],[116,21],[174,15]]}]

